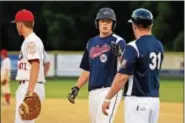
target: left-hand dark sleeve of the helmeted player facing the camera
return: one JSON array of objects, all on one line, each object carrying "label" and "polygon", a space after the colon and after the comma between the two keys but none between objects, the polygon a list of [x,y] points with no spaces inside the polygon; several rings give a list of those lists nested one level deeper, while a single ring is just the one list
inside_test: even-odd
[{"label": "left-hand dark sleeve of the helmeted player facing the camera", "polygon": [[86,71],[90,70],[90,67],[89,67],[89,54],[88,54],[87,48],[84,51],[84,54],[83,54],[83,57],[82,57],[82,60],[81,60],[81,63],[80,63],[80,68],[83,69],[83,70],[86,70]]}]

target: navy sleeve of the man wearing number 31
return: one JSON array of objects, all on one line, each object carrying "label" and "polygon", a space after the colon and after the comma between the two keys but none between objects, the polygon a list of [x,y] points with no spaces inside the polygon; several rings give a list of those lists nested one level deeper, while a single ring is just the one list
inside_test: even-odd
[{"label": "navy sleeve of the man wearing number 31", "polygon": [[123,53],[119,73],[132,75],[135,71],[138,54],[131,45],[127,45]]}]

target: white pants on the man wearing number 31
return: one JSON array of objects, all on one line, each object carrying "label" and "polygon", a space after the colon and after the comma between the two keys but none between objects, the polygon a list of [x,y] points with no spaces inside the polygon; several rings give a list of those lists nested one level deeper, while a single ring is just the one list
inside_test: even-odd
[{"label": "white pants on the man wearing number 31", "polygon": [[127,96],[124,100],[124,123],[158,123],[159,98]]}]

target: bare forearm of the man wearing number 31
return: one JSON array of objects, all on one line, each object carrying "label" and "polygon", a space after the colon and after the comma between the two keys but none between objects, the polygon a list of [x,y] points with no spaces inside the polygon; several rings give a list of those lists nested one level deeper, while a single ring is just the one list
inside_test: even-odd
[{"label": "bare forearm of the man wearing number 31", "polygon": [[119,92],[119,90],[124,87],[127,79],[128,75],[117,73],[112,83],[111,89],[106,96],[106,99],[112,99]]}]

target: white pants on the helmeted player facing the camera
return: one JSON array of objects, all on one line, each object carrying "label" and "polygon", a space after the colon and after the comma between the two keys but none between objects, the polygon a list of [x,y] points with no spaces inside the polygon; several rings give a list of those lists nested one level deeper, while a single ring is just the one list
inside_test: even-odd
[{"label": "white pants on the helmeted player facing the camera", "polygon": [[122,90],[112,98],[108,116],[102,112],[102,104],[110,87],[92,90],[89,92],[90,123],[113,123],[115,113],[122,99]]}]

